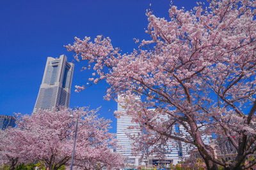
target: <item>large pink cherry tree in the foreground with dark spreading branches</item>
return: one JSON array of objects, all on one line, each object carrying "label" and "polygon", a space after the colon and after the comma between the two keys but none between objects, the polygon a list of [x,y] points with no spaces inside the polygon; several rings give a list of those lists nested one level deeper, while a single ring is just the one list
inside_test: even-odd
[{"label": "large pink cherry tree in the foreground with dark spreading branches", "polygon": [[[66,47],[77,61],[88,61],[83,69],[95,70],[86,85],[106,80],[106,99],[125,96],[121,102],[144,131],[194,145],[207,169],[246,169],[256,163],[246,161],[256,151],[255,7],[255,0],[212,0],[191,11],[171,5],[168,20],[148,10],[150,39],[132,53],[122,54],[103,36],[75,38]],[[156,121],[161,115],[168,120]],[[177,135],[175,124],[189,135]],[[212,133],[232,143],[234,160],[215,157],[202,139]]]}]

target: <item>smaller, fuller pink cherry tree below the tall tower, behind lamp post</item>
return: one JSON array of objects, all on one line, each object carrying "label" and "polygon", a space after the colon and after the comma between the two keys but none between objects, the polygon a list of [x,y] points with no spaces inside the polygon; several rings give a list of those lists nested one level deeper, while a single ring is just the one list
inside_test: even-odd
[{"label": "smaller, fuller pink cherry tree below the tall tower, behind lamp post", "polygon": [[[109,160],[120,157],[118,153],[111,152],[111,148],[115,148],[116,143],[115,135],[108,132],[110,120],[98,118],[96,113],[97,110],[88,108],[75,110],[61,108],[58,111],[41,110],[31,116],[19,115],[17,128],[10,131],[15,147],[8,148],[6,152],[17,153],[15,156],[22,160],[41,161],[49,169],[69,166],[78,120],[74,165],[83,169],[92,169],[90,167],[92,165],[120,166],[122,157]],[[74,115],[76,120],[72,120],[70,114]],[[108,157],[102,159],[104,153]]]}]

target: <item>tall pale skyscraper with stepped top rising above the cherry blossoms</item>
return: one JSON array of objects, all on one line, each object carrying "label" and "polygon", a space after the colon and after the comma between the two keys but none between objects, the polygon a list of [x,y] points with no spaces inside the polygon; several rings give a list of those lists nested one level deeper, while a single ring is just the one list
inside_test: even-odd
[{"label": "tall pale skyscraper with stepped top rising above the cherry blossoms", "polygon": [[44,77],[36,99],[33,113],[38,110],[52,110],[58,106],[68,108],[74,64],[67,62],[67,56],[47,57]]}]

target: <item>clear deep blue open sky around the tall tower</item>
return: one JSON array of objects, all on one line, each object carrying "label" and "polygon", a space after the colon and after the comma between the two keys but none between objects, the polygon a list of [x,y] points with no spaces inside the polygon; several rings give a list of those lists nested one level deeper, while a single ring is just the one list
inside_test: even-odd
[{"label": "clear deep blue open sky around the tall tower", "polygon": [[[150,39],[145,33],[145,11],[152,4],[153,14],[168,19],[168,0],[74,0],[35,1],[0,0],[0,115],[31,114],[42,82],[47,57],[72,52],[63,45],[74,43],[74,37],[94,39],[102,34],[111,38],[122,52],[132,52],[133,38]],[[186,10],[194,0],[173,0]],[[83,92],[74,92],[75,85],[87,82],[92,72],[81,71],[83,62],[74,62],[70,108],[101,106],[99,116],[110,118],[111,132],[116,132],[115,101],[104,101],[107,84],[102,82]]]}]

